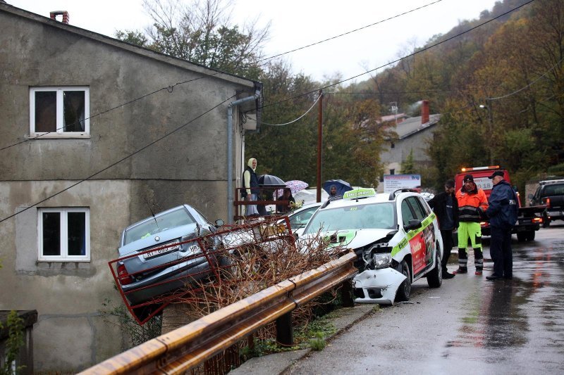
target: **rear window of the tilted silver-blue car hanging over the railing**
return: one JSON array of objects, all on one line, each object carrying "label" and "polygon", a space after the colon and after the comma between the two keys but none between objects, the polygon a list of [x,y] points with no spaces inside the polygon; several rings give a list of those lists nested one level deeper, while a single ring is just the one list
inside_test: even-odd
[{"label": "rear window of the tilted silver-blue car hanging over the railing", "polygon": [[195,220],[192,216],[190,216],[188,210],[180,207],[178,210],[166,212],[162,215],[157,215],[154,218],[151,217],[150,220],[145,220],[145,222],[137,224],[134,227],[125,229],[125,234],[123,234],[123,245],[127,245],[128,243],[139,239],[145,239],[145,237],[150,236],[151,234],[157,234],[166,229],[192,223],[195,223]]}]

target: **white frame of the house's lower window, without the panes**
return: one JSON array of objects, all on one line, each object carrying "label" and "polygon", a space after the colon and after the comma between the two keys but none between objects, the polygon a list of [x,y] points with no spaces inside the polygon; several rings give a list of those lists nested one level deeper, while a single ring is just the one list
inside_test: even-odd
[{"label": "white frame of the house's lower window, without the panes", "polygon": [[[43,255],[43,212],[59,212],[61,214],[59,224],[61,228],[61,255]],[[68,212],[85,212],[85,255],[68,255]],[[37,259],[46,262],[90,262],[90,208],[38,208]]]}]

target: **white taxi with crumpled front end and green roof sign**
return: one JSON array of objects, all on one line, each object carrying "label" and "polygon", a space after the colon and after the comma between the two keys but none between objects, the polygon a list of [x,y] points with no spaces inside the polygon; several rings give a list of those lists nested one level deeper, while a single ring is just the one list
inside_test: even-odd
[{"label": "white taxi with crumpled front end and green roof sign", "polygon": [[360,269],[353,279],[356,302],[409,300],[412,282],[422,277],[431,288],[442,284],[439,224],[418,193],[348,191],[319,208],[302,237],[318,233],[328,236],[333,246],[355,250]]}]

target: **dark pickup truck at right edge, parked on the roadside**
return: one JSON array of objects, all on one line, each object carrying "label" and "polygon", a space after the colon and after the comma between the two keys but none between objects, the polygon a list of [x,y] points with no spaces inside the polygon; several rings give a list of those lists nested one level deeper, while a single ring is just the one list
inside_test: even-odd
[{"label": "dark pickup truck at right edge, parked on the roadside", "polygon": [[546,205],[542,212],[542,226],[548,227],[553,220],[564,220],[564,179],[548,179],[539,182],[534,194],[529,194],[531,205]]}]

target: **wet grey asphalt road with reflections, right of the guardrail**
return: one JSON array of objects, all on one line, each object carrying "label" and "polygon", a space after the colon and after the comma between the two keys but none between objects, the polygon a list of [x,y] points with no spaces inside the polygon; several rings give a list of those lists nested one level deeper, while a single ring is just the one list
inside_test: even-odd
[{"label": "wet grey asphalt road with reflections, right of the guardrail", "polygon": [[487,239],[482,276],[469,258],[469,274],[438,289],[417,281],[409,303],[382,307],[287,372],[564,374],[564,222],[532,242],[513,235],[513,280],[486,280]]}]

